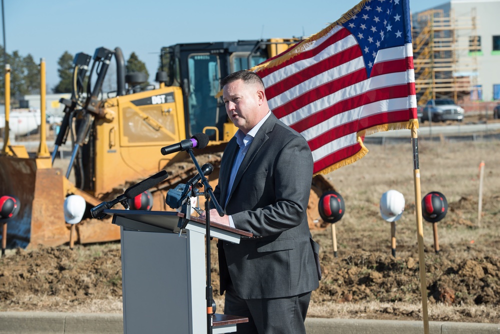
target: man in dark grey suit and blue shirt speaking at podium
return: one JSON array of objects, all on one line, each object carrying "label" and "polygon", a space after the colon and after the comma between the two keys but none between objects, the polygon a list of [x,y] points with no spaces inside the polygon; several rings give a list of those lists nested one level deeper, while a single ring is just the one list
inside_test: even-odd
[{"label": "man in dark grey suit and blue shirt speaking at podium", "polygon": [[226,215],[211,209],[210,218],[253,233],[239,244],[217,244],[224,313],[248,316],[238,333],[305,333],[311,291],[319,285],[306,215],[310,149],[269,110],[257,74],[234,72],[220,85],[238,131],[213,192]]}]

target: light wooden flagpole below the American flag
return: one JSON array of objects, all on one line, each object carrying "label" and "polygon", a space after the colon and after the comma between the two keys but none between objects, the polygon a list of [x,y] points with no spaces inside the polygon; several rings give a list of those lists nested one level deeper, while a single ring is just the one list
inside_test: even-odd
[{"label": "light wooden flagpole below the American flag", "polygon": [[420,194],[420,167],[418,164],[418,137],[416,128],[411,129],[411,145],[413,146],[413,181],[415,185],[415,216],[418,241],[418,264],[420,271],[420,293],[422,296],[423,332],[429,333],[427,313],[427,283],[425,282],[425,258],[423,254],[422,198]]}]

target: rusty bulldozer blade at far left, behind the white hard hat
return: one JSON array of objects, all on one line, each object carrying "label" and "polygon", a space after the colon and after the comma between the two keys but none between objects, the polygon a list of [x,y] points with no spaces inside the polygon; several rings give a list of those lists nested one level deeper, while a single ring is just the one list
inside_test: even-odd
[{"label": "rusty bulldozer blade at far left, behind the white hard hat", "polygon": [[[100,202],[87,193],[69,186],[59,168],[46,168],[46,158],[0,156],[0,194],[16,196],[20,209],[6,219],[7,248],[58,246],[69,242],[70,225],[64,220],[64,198],[67,194],[84,194],[88,205]],[[94,220],[94,219],[92,219]],[[80,243],[118,240],[119,227],[110,219],[82,222],[76,225]]]}]

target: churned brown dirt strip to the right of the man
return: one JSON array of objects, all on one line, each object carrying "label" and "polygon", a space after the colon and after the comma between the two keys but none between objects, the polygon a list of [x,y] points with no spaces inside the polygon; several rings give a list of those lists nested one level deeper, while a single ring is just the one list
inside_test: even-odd
[{"label": "churned brown dirt strip to the right of the man", "polygon": [[[446,305],[500,305],[500,257],[449,258],[426,254],[429,302]],[[421,301],[419,263],[413,257],[392,257],[379,252],[356,251],[343,258],[323,254],[324,282],[314,293],[316,301],[409,302]]]}]

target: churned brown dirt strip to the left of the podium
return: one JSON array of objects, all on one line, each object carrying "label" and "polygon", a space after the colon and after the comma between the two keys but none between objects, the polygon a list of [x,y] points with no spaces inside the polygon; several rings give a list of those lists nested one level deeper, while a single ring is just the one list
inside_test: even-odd
[{"label": "churned brown dirt strip to the left of the podium", "polygon": [[120,250],[116,247],[92,251],[67,246],[34,251],[18,248],[1,260],[1,310],[36,310],[37,298],[79,304],[120,296]]}]

